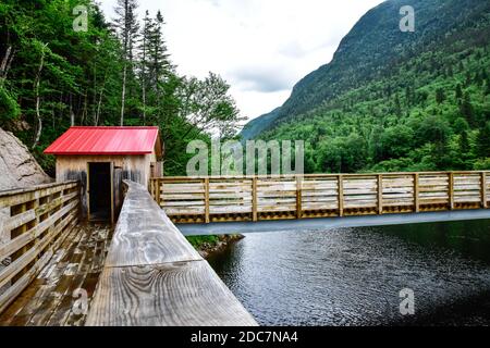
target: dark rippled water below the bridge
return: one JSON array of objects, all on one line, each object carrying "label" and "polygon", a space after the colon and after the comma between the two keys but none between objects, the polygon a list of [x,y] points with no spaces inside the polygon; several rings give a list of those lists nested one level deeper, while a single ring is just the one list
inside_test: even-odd
[{"label": "dark rippled water below the bridge", "polygon": [[490,221],[249,234],[210,263],[262,325],[490,325]]}]

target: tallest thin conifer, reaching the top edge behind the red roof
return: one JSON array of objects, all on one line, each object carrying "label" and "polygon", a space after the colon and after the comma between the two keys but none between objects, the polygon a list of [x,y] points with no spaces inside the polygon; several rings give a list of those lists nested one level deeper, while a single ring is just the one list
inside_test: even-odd
[{"label": "tallest thin conifer, reaching the top edge behind the red roof", "polygon": [[122,42],[122,59],[123,59],[123,79],[121,94],[121,126],[124,125],[124,107],[126,101],[126,88],[128,71],[133,69],[134,48],[138,34],[138,22],[136,17],[137,9],[136,0],[118,0],[118,5],[114,8],[118,18],[114,21],[114,26],[118,30]]}]

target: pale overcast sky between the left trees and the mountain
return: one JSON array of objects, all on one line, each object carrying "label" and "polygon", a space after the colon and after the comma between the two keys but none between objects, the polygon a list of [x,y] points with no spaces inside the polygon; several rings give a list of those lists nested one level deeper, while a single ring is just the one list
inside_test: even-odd
[{"label": "pale overcast sky between the left trees and the mountain", "polygon": [[[108,20],[117,0],[100,0]],[[382,0],[139,0],[162,11],[172,61],[183,75],[220,74],[242,114],[280,107],[295,83],[332,59],[357,20]]]}]

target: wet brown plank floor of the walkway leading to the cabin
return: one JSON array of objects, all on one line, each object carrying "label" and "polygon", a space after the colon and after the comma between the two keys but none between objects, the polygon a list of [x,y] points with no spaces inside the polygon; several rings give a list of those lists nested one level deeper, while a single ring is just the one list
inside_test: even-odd
[{"label": "wet brown plank floor of the walkway leading to the cabin", "polygon": [[106,225],[74,227],[39,276],[0,315],[0,326],[84,325],[86,315],[74,311],[74,291],[85,290],[89,303],[111,238]]}]

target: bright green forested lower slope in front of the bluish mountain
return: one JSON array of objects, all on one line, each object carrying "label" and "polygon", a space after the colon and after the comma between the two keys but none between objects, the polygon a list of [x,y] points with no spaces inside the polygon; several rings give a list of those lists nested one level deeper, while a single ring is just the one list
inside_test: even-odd
[{"label": "bright green forested lower slope in front of the bluish mountain", "polygon": [[489,170],[489,51],[487,42],[413,57],[262,137],[306,140],[308,172]]}]

